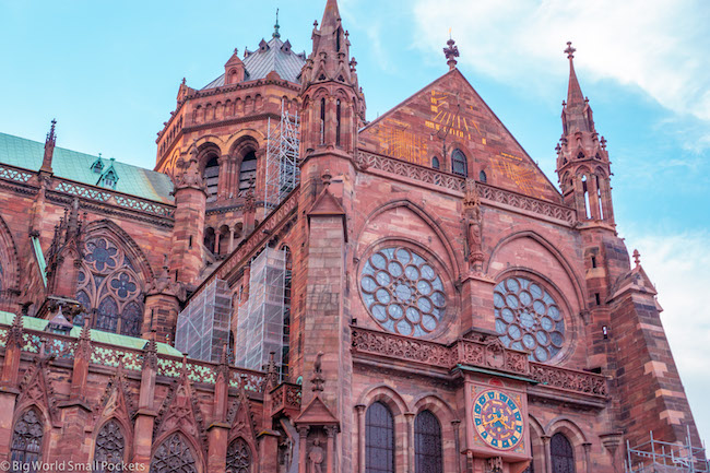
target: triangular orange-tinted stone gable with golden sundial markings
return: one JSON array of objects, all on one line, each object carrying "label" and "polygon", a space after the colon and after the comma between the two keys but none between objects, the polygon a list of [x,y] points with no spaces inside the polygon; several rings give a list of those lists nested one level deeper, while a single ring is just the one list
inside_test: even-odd
[{"label": "triangular orange-tinted stone gable with golden sundial markings", "polygon": [[[451,152],[469,161],[469,176],[537,199],[560,202],[557,189],[488,108],[458,69],[394,107],[359,134],[365,150],[430,167],[431,157],[450,172]],[[447,161],[441,159],[443,144]]]}]

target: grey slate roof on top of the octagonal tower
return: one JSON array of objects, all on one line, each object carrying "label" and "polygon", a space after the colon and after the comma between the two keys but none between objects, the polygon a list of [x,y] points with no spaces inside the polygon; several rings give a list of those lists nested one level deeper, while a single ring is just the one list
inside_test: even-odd
[{"label": "grey slate roof on top of the octagonal tower", "polygon": [[[246,70],[244,81],[265,79],[269,72],[276,71],[281,79],[285,79],[288,82],[300,83],[300,70],[306,63],[305,55],[298,55],[291,48],[287,48],[287,51],[284,51],[282,48],[284,42],[277,37],[272,37],[267,45],[269,46],[267,50],[261,50],[261,48],[259,48],[253,52],[249,52],[247,57],[242,59]],[[202,90],[221,87],[223,85],[224,74],[210,82]]]}]

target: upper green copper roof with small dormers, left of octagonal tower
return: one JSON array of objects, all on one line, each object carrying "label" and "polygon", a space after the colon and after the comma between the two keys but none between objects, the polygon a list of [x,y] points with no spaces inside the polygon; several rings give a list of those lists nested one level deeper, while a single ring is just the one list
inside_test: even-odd
[{"label": "upper green copper roof with small dormers, left of octagonal tower", "polygon": [[[39,170],[44,154],[44,143],[0,133],[0,163],[29,170]],[[96,186],[104,174],[92,170],[92,164],[96,159],[98,159],[98,156],[55,147],[51,168],[55,176]],[[109,159],[102,158],[102,162],[105,170],[111,166]],[[119,162],[114,162],[113,168],[118,176],[117,191],[173,203],[173,197],[170,196],[173,182],[165,174]]]}]

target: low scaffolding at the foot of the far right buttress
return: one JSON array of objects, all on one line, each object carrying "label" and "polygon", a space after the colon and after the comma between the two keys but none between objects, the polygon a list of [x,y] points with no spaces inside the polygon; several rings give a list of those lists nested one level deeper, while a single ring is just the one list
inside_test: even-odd
[{"label": "low scaffolding at the foot of the far right buttress", "polygon": [[710,472],[705,448],[694,447],[690,428],[684,444],[668,444],[653,438],[631,447],[626,441],[626,473],[703,473]]}]

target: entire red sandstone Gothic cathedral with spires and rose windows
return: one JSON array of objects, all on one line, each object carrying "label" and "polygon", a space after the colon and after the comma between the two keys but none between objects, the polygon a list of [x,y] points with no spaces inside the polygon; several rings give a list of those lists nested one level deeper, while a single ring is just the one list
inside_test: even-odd
[{"label": "entire red sandstone Gothic cathedral with spires and rose windows", "polygon": [[553,184],[452,39],[368,121],[323,2],[182,80],[152,169],[0,133],[0,468],[708,471],[572,45]]}]

